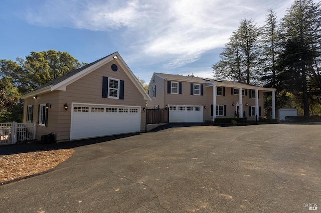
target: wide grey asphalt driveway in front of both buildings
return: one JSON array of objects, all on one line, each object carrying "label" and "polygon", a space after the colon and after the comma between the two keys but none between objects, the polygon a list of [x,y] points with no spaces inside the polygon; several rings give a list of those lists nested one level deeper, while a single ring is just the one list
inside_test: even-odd
[{"label": "wide grey asphalt driveway in front of both buildings", "polygon": [[52,171],[0,186],[1,211],[321,211],[319,124],[170,127],[106,140],[80,141]]}]

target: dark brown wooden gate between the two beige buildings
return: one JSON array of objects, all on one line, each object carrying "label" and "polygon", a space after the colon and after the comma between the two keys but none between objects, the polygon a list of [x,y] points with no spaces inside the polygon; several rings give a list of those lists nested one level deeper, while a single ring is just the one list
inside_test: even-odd
[{"label": "dark brown wooden gate between the two beige buildings", "polygon": [[167,108],[146,109],[146,125],[169,123],[169,110]]}]

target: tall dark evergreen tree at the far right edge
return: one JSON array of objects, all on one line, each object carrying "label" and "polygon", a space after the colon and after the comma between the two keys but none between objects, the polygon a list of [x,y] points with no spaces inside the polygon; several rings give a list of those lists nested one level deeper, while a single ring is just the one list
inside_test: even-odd
[{"label": "tall dark evergreen tree at the far right edge", "polygon": [[282,49],[278,62],[278,88],[301,96],[305,116],[309,116],[311,82],[317,84],[319,80],[320,21],[319,3],[294,0],[280,23]]}]

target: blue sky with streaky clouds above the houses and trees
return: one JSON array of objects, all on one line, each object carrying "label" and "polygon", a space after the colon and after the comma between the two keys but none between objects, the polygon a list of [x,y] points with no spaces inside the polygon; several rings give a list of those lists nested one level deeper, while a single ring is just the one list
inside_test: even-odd
[{"label": "blue sky with streaky clouds above the houses and trees", "polygon": [[[316,1],[314,1],[316,2]],[[64,51],[91,63],[116,51],[148,84],[154,72],[211,77],[242,19],[264,25],[293,0],[0,0],[0,59]]]}]

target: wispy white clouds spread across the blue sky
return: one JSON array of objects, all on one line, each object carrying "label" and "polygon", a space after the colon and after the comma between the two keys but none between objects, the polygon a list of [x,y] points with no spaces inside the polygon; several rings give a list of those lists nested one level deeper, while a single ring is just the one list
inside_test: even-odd
[{"label": "wispy white clouds spread across the blue sky", "polygon": [[47,0],[29,8],[26,18],[41,26],[118,33],[119,47],[133,52],[132,60],[144,57],[149,64],[173,69],[222,48],[241,19],[263,25],[267,9],[283,12],[277,13],[282,17],[291,4],[292,0]]}]

